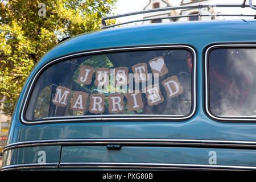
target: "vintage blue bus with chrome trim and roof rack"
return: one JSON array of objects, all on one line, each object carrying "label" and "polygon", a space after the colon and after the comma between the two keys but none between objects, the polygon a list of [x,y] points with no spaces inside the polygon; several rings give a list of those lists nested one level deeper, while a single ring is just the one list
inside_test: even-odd
[{"label": "vintage blue bus with chrome trim and roof rack", "polygon": [[255,19],[105,22],[208,6],[108,16],[57,44],[23,86],[2,170],[255,170]]}]

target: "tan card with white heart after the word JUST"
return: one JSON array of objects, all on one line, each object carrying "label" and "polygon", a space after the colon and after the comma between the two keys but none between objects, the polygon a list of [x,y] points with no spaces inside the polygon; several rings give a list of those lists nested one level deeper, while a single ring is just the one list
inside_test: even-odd
[{"label": "tan card with white heart after the word JUST", "polygon": [[168,73],[168,69],[166,67],[166,64],[164,63],[163,57],[156,57],[155,59],[150,60],[149,65],[155,77],[158,75],[163,76]]}]

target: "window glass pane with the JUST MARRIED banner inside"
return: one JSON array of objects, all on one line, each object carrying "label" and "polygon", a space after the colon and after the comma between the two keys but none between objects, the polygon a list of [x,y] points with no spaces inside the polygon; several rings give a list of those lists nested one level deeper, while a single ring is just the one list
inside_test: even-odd
[{"label": "window glass pane with the JUST MARRIED banner inside", "polygon": [[193,56],[174,48],[51,63],[35,79],[24,118],[187,116],[194,107]]}]

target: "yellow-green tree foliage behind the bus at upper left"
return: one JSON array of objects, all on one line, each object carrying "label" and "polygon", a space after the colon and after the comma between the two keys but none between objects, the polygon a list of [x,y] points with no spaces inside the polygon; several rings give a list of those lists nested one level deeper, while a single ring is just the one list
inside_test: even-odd
[{"label": "yellow-green tree foliage behind the bus at upper left", "polygon": [[40,57],[62,38],[100,29],[101,18],[112,12],[116,1],[0,0],[0,101],[6,115],[13,113]]}]

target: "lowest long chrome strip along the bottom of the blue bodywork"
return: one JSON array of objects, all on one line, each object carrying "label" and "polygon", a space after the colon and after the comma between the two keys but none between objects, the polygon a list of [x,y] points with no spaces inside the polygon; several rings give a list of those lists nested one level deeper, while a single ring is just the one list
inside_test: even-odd
[{"label": "lowest long chrome strip along the bottom of the blue bodywork", "polygon": [[64,169],[64,168],[130,168],[130,169],[220,169],[256,170],[251,166],[228,166],[217,164],[175,164],[175,163],[112,163],[112,162],[64,162],[64,163],[25,163],[4,166],[1,171],[23,169]]}]

